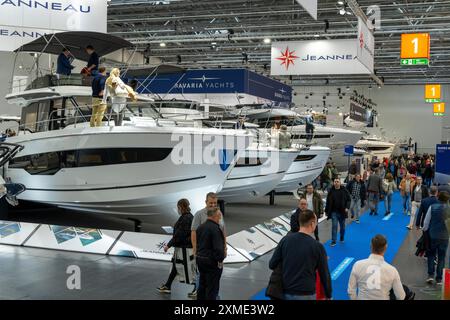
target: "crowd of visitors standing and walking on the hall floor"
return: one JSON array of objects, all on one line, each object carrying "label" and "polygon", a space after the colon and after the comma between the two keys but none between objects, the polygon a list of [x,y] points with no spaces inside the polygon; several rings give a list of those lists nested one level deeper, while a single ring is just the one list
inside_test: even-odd
[{"label": "crowd of visitors standing and walking on the hall floor", "polygon": [[[422,230],[427,245],[427,273],[429,284],[442,284],[442,271],[446,262],[449,241],[450,209],[448,190],[431,185],[434,172],[433,156],[374,160],[361,175],[352,162],[346,185],[343,185],[336,166],[328,163],[320,176],[320,183],[306,186],[300,195],[298,207],[291,216],[290,232],[276,247],[269,268],[272,270],[266,295],[272,299],[316,300],[332,298],[332,281],[328,258],[319,241],[318,220],[326,215],[331,220],[331,247],[345,241],[348,218],[360,223],[360,215],[378,215],[378,204],[384,200],[385,215],[392,214],[395,192],[402,198],[404,215],[409,215],[408,229]],[[318,189],[326,190],[324,203]],[[189,202],[178,203],[180,218],[175,224],[173,239],[164,248],[180,247],[183,257],[195,260],[192,277],[184,276],[186,283],[194,285],[189,297],[198,300],[219,299],[223,261],[227,256],[226,232],[223,217],[217,207],[217,195],[208,193],[206,206],[194,216]],[[367,244],[369,247],[369,244]],[[397,269],[387,263],[384,255],[388,239],[374,235],[370,255],[357,261],[348,282],[348,296],[352,300],[413,299],[414,293],[402,284]],[[187,250],[187,251],[186,251]],[[175,250],[169,279],[158,290],[170,293],[173,280],[183,267],[177,268],[180,250]],[[299,258],[301,257],[301,258]],[[181,261],[183,263],[183,261]],[[189,263],[184,262],[184,270]],[[372,278],[377,275],[377,285]],[[187,279],[190,279],[187,281]]]}]

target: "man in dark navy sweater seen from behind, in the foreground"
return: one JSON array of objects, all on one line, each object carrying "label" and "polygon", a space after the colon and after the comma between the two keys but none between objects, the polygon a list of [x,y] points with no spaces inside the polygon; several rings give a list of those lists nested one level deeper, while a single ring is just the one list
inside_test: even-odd
[{"label": "man in dark navy sweater seen from behind, in the foreground", "polygon": [[331,299],[331,276],[325,248],[311,235],[317,226],[317,217],[311,210],[299,215],[300,230],[281,239],[269,268],[281,263],[283,293],[286,300],[316,300],[316,272],[326,298]]}]

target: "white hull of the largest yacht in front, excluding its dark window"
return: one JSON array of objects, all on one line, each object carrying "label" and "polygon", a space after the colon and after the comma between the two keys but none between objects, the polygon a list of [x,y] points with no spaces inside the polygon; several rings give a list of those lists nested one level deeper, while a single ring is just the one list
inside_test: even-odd
[{"label": "white hull of the largest yacht in front, excluding its dark window", "polygon": [[[204,206],[207,192],[219,192],[239,156],[235,148],[228,153],[229,165],[221,165],[219,159],[207,164],[201,156],[192,164],[179,164],[173,156],[178,156],[174,153],[180,137],[203,141],[188,150],[192,157],[203,155],[214,139],[235,140],[241,150],[251,142],[242,131],[196,128],[99,127],[24,134],[8,139],[25,147],[17,157],[101,148],[174,149],[161,161],[66,167],[52,175],[30,174],[10,166],[6,176],[27,187],[21,200],[92,213],[175,217],[179,199],[187,198],[194,211]],[[223,156],[222,149],[215,151],[217,157]]]}]

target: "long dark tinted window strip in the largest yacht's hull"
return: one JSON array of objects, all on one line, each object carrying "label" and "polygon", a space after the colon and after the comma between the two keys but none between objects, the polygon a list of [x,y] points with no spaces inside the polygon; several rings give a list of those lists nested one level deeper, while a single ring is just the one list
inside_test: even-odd
[{"label": "long dark tinted window strip in the largest yacht's hull", "polygon": [[162,161],[171,151],[171,148],[115,148],[48,152],[14,158],[9,162],[9,168],[53,175],[61,168]]}]

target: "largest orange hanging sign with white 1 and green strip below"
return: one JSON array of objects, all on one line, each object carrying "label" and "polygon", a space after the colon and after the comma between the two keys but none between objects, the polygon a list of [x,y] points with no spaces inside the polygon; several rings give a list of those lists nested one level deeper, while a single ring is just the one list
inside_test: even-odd
[{"label": "largest orange hanging sign with white 1 and green strip below", "polygon": [[430,34],[402,34],[400,61],[402,66],[428,66],[430,62]]}]

